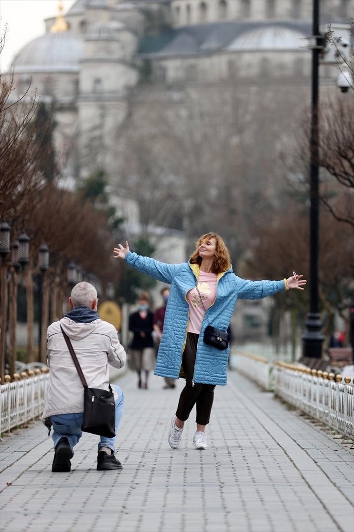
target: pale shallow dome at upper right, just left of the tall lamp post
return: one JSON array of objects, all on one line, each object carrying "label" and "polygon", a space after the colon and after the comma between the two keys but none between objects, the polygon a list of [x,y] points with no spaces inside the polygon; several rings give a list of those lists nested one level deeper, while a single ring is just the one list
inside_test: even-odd
[{"label": "pale shallow dome at upper right, just left of the tall lamp post", "polygon": [[305,35],[285,26],[262,26],[243,32],[235,38],[228,50],[293,50],[305,46]]}]

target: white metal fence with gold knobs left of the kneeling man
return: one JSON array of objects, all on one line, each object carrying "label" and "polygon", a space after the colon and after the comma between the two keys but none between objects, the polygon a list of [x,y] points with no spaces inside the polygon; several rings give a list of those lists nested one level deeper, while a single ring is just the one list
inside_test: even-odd
[{"label": "white metal fence with gold knobs left of the kneeling man", "polygon": [[1,434],[10,432],[12,428],[34,420],[43,413],[49,373],[32,375],[33,371],[30,371],[28,378],[14,380],[12,383],[7,382],[0,386]]}]

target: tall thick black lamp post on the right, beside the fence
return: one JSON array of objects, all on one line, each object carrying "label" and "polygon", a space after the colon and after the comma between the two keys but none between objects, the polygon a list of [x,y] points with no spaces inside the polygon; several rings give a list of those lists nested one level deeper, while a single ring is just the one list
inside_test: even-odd
[{"label": "tall thick black lamp post on the right, beside the fence", "polygon": [[310,311],[306,331],[302,336],[303,355],[319,359],[324,336],[318,312],[318,65],[325,36],[319,35],[319,0],[313,0],[313,39],[311,73],[311,130],[310,130]]}]

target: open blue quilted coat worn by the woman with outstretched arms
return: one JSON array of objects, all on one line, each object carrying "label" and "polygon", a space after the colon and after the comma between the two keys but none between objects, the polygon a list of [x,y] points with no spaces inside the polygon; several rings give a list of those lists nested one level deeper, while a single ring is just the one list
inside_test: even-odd
[{"label": "open blue quilted coat worn by the woman with outstretched arms", "polygon": [[[189,320],[187,292],[196,286],[199,276],[198,264],[166,264],[129,252],[125,261],[133,268],[158,281],[171,285],[168,297],[161,343],[157,354],[155,375],[178,379],[182,353],[186,343]],[[285,290],[284,281],[248,281],[227,270],[217,276],[216,299],[207,309],[210,324],[218,329],[229,327],[237,298],[260,299]],[[219,351],[203,342],[204,318],[197,347],[195,383],[225,385],[229,348]]]}]

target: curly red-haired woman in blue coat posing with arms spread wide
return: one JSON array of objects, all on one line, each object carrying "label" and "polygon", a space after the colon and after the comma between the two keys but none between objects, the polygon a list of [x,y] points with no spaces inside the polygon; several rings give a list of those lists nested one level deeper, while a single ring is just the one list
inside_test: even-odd
[{"label": "curly red-haired woman in blue coat posing with arms spread wide", "polygon": [[214,388],[226,384],[229,348],[223,351],[204,341],[208,322],[226,333],[237,298],[259,299],[283,290],[303,290],[306,280],[293,273],[280,281],[249,281],[232,271],[230,254],[214,232],[202,235],[188,263],[166,264],[132,253],[128,242],[114,256],[154,279],[171,284],[155,375],[186,378],[168,433],[172,448],[181,446],[184,422],[194,405],[197,430],[193,446],[207,447],[205,427],[212,411]]}]

